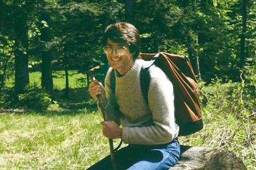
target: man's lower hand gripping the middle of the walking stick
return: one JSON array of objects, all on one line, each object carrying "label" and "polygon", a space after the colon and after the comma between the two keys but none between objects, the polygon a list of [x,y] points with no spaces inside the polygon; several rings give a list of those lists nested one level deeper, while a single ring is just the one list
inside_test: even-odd
[{"label": "man's lower hand gripping the middle of the walking stick", "polygon": [[122,129],[119,128],[114,121],[103,121],[100,123],[102,125],[103,135],[109,139],[122,138]]}]

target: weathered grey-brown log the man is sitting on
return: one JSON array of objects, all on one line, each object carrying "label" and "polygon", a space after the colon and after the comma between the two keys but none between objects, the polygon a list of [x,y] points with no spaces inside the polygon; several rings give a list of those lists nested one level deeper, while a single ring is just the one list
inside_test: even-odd
[{"label": "weathered grey-brown log the man is sitting on", "polygon": [[181,158],[176,166],[169,170],[197,169],[197,170],[235,170],[246,169],[239,158],[232,152],[206,147],[192,147],[181,145]]}]

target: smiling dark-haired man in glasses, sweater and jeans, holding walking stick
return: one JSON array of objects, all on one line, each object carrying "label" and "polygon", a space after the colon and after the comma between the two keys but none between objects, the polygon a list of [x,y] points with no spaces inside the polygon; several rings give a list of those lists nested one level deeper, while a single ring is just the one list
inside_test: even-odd
[{"label": "smiling dark-haired man in glasses, sweater and jeans, holding walking stick", "polygon": [[[103,135],[110,139],[121,138],[129,144],[115,153],[117,169],[169,169],[181,154],[172,83],[160,68],[155,67],[150,72],[148,102],[144,100],[140,86],[144,60],[138,57],[139,31],[132,24],[109,25],[103,45],[111,66],[105,78],[105,88],[95,80],[89,85],[89,93],[96,100],[96,96],[101,95],[108,119],[101,122]],[[115,73],[115,92],[110,83],[112,71]],[[110,157],[89,169],[112,169]]]}]

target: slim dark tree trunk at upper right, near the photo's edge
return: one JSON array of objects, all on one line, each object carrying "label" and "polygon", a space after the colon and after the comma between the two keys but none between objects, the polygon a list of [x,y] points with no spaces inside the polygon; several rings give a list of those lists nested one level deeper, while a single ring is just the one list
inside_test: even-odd
[{"label": "slim dark tree trunk at upper right, near the photo's edge", "polygon": [[247,0],[243,1],[243,6],[242,6],[242,16],[243,16],[243,23],[242,23],[242,32],[241,32],[241,40],[240,40],[240,66],[243,68],[245,65],[245,58],[246,58],[246,52],[245,52],[245,34],[246,34],[246,22],[247,22]]}]

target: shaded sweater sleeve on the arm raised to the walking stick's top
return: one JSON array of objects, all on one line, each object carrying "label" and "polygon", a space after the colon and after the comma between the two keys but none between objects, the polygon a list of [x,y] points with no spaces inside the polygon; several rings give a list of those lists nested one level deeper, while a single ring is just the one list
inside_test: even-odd
[{"label": "shaded sweater sleeve on the arm raised to the walking stick's top", "polygon": [[114,97],[114,93],[112,92],[112,87],[110,83],[110,76],[112,71],[113,69],[109,68],[105,78],[105,93],[107,97],[107,105],[102,109],[99,107],[98,103],[98,108],[102,115],[105,114],[108,121],[115,121],[116,124],[120,125],[121,113],[119,111],[118,105],[116,104],[116,100]]}]

